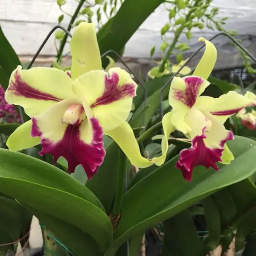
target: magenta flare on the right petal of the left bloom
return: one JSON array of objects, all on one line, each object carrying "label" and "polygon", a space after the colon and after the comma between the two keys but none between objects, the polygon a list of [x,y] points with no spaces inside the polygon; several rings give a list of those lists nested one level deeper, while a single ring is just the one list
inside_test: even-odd
[{"label": "magenta flare on the right petal of the left bloom", "polygon": [[101,97],[96,99],[96,101],[90,107],[94,108],[99,105],[107,105],[119,99],[125,98],[126,96],[135,96],[134,84],[122,84],[122,86],[119,86],[118,82],[119,76],[117,73],[112,73],[111,77],[105,75],[104,93]]}]

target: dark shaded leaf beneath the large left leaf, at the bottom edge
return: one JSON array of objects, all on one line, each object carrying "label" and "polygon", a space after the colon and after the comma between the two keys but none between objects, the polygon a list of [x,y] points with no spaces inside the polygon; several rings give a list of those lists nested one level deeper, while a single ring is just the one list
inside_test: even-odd
[{"label": "dark shaded leaf beneath the large left leaf, at the bottom edge", "polygon": [[24,204],[24,206],[29,209],[29,211],[33,212],[42,224],[51,227],[51,230],[55,233],[58,240],[67,246],[76,256],[84,256],[85,252],[90,256],[103,255],[103,253],[99,251],[99,246],[93,238],[82,232],[80,228],[26,204]]}]

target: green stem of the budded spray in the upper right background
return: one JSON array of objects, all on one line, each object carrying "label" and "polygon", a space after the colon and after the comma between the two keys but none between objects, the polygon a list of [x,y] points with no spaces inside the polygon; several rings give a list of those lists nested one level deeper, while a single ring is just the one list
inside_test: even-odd
[{"label": "green stem of the budded spray in the upper right background", "polygon": [[198,5],[199,0],[196,0],[194,5],[192,6],[192,8],[190,9],[190,11],[188,12],[188,14],[185,17],[185,21],[183,24],[181,24],[179,26],[179,28],[177,29],[177,31],[175,32],[175,38],[172,41],[172,44],[170,45],[168,51],[166,52],[166,55],[163,58],[163,61],[161,62],[160,66],[159,66],[159,73],[162,73],[164,70],[164,65],[166,64],[166,61],[168,61],[170,55],[172,54],[172,51],[180,37],[180,34],[182,33],[183,29],[185,28],[186,22],[189,20],[190,16],[192,15],[192,13],[195,11],[194,7],[196,7]]}]

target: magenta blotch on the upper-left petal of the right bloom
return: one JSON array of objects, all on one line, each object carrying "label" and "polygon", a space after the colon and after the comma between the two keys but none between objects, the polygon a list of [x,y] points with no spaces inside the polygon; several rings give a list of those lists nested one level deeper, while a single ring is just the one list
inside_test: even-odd
[{"label": "magenta blotch on the upper-left petal of the right bloom", "polygon": [[199,88],[204,80],[197,76],[187,76],[184,81],[186,84],[185,91],[173,88],[174,98],[189,108],[192,108],[198,96]]}]

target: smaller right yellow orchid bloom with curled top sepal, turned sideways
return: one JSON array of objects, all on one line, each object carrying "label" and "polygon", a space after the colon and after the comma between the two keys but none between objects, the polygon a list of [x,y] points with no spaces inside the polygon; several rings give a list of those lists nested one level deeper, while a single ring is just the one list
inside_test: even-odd
[{"label": "smaller right yellow orchid bloom with curled top sepal, turned sideways", "polygon": [[206,49],[192,76],[175,77],[172,80],[169,103],[172,111],[163,116],[164,137],[162,139],[163,155],[156,161],[164,162],[168,149],[168,139],[172,131],[177,129],[192,140],[190,148],[180,151],[176,168],[180,169],[186,180],[191,180],[195,166],[202,165],[219,170],[217,162],[229,164],[234,156],[226,142],[233,140],[231,131],[224,127],[224,122],[231,115],[247,106],[256,105],[256,97],[247,92],[242,96],[234,91],[212,98],[201,96],[210,84],[207,79],[217,59],[214,45],[199,38],[206,44]]}]

